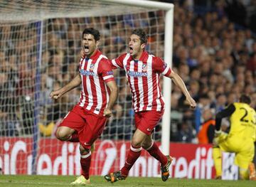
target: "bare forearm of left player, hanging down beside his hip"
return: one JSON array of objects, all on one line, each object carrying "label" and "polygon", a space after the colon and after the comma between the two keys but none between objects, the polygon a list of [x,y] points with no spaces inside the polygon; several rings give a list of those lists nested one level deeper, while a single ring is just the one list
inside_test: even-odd
[{"label": "bare forearm of left player, hanging down beside his hip", "polygon": [[110,100],[107,103],[107,108],[104,110],[104,116],[110,117],[112,114],[112,107],[114,106],[114,102],[117,100],[117,83],[113,80],[107,82],[107,87],[110,88]]}]

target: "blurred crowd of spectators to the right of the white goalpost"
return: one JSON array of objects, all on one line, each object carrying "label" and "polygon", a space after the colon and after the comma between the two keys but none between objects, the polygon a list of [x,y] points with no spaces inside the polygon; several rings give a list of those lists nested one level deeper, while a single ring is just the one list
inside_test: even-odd
[{"label": "blurred crowd of spectators to the right of the white goalpost", "polygon": [[[215,11],[206,14],[196,14],[189,1],[175,6],[174,70],[198,107],[195,111],[188,109],[181,91],[173,87],[173,141],[197,142],[202,125],[230,103],[238,102],[241,93],[250,95],[256,108],[255,36],[250,29],[229,21],[221,2],[215,1]],[[223,130],[229,125],[225,120]]]}]

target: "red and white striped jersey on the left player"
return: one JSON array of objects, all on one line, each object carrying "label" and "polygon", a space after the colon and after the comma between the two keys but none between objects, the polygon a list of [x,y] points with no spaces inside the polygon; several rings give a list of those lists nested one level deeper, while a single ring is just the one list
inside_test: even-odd
[{"label": "red and white striped jersey on the left player", "polygon": [[109,60],[97,50],[90,58],[80,60],[79,72],[82,91],[78,105],[90,112],[103,115],[110,98],[110,90],[105,83],[114,80]]}]

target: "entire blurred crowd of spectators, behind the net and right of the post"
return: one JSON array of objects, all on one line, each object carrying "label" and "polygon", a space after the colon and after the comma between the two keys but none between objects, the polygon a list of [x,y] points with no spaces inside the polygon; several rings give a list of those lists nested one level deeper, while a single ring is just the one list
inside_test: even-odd
[{"label": "entire blurred crowd of spectators, behind the net and right of the post", "polygon": [[[198,107],[189,109],[181,90],[172,86],[171,141],[197,143],[202,124],[238,101],[242,93],[252,97],[252,107],[256,108],[256,38],[250,29],[228,19],[223,1],[215,1],[215,9],[206,13],[197,12],[190,2],[175,4],[173,70],[184,80]],[[2,136],[29,136],[35,130],[42,136],[53,136],[56,125],[78,102],[80,88],[59,100],[51,100],[48,95],[77,75],[80,38],[85,27],[100,30],[100,50],[110,59],[127,50],[127,38],[134,28],[144,28],[149,34],[146,50],[164,58],[164,11],[50,18],[43,24],[1,24]],[[102,138],[131,139],[134,131],[131,94],[124,71],[115,70],[114,75],[119,99]],[[228,126],[226,120],[223,128]],[[154,138],[161,139],[161,122]]]}]

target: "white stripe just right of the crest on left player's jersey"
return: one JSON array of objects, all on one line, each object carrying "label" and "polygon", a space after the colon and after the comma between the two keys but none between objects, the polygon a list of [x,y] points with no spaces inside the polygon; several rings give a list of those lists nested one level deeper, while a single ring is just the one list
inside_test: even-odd
[{"label": "white stripe just right of the crest on left player's jersey", "polygon": [[93,69],[93,72],[95,73],[95,76],[93,77],[93,80],[95,82],[95,87],[96,87],[96,95],[97,95],[97,107],[93,111],[95,114],[100,113],[100,109],[102,108],[102,90],[100,87],[100,79],[99,76],[97,75],[97,70],[99,67],[100,60],[103,58],[103,55],[100,55],[100,57],[97,59],[95,63],[95,68]]}]

